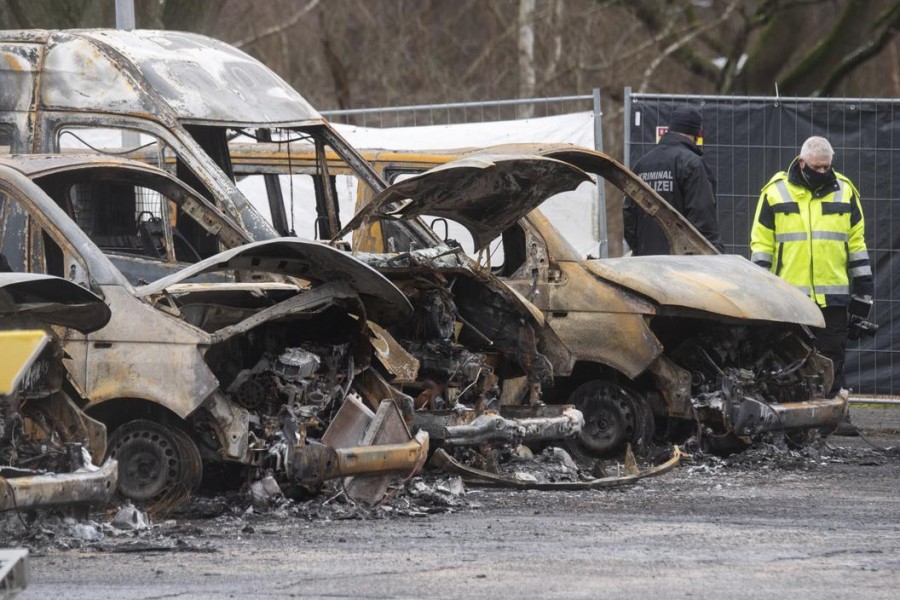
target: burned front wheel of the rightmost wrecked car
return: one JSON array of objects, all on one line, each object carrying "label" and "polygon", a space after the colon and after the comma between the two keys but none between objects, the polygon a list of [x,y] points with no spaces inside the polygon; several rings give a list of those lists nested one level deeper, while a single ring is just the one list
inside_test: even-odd
[{"label": "burned front wheel of the rightmost wrecked car", "polygon": [[626,444],[644,450],[653,436],[653,415],[643,399],[611,381],[589,381],[570,401],[584,415],[581,432],[567,440],[569,451],[582,460],[620,454]]}]

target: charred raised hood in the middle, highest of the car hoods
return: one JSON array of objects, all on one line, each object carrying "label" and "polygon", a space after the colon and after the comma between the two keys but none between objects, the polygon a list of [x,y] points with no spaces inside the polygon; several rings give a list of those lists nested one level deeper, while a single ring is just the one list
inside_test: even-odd
[{"label": "charred raised hood in the middle, highest of the car hoods", "polygon": [[336,237],[366,219],[433,215],[465,226],[480,250],[547,198],[585,181],[591,176],[551,158],[473,154],[388,187]]}]

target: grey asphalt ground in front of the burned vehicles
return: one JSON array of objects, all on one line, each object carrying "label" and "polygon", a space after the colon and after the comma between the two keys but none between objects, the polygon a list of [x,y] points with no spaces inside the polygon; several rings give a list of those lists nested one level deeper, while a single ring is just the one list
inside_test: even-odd
[{"label": "grey asphalt ground in front of the burned vehicles", "polygon": [[900,407],[851,415],[863,437],[613,490],[469,487],[430,512],[199,511],[133,537],[49,536],[20,598],[893,600]]}]

